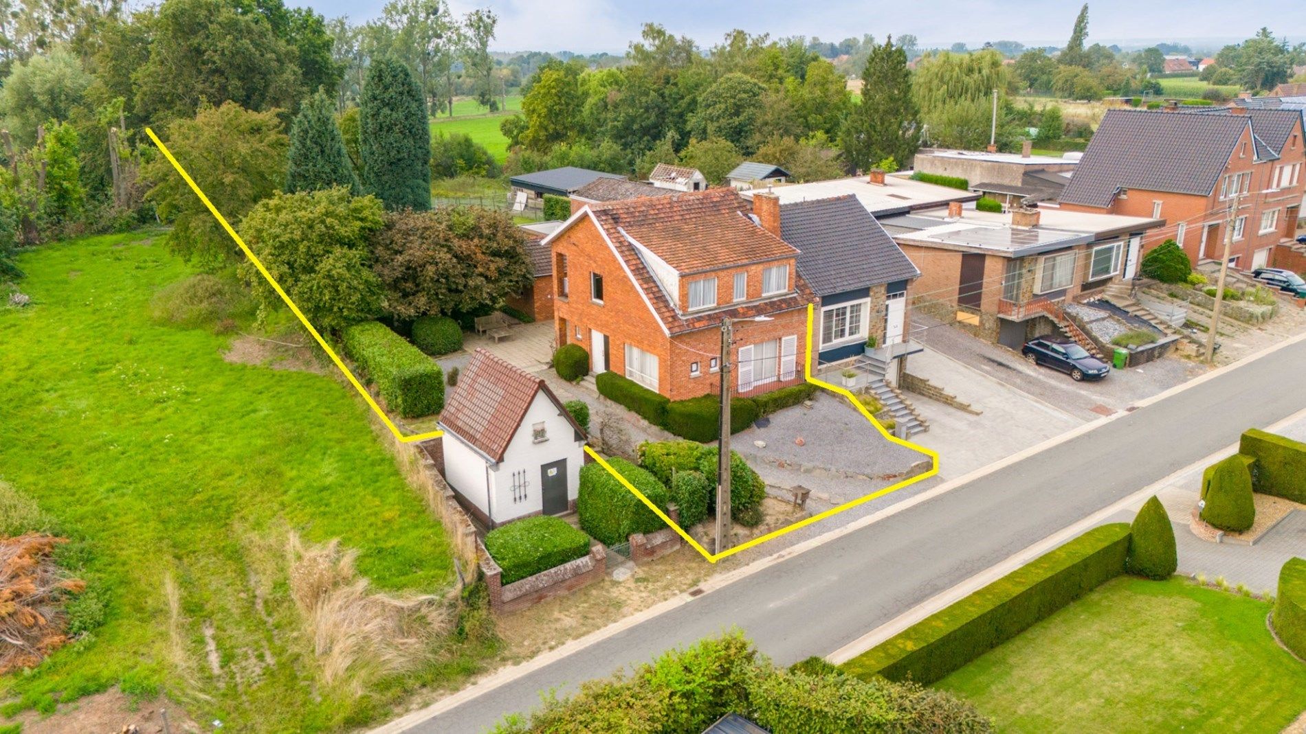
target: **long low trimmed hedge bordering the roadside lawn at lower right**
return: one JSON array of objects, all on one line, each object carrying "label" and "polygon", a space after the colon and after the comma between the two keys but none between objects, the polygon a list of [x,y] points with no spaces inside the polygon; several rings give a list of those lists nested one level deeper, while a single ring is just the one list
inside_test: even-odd
[{"label": "long low trimmed hedge bordering the roadside lawn at lower right", "polygon": [[1100,525],[842,665],[929,686],[1124,571],[1130,527]]}]

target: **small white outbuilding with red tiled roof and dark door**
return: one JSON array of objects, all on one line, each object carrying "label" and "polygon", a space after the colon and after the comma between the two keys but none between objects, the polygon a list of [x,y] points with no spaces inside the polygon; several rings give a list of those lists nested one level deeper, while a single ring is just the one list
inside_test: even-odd
[{"label": "small white outbuilding with red tiled roof and dark door", "polygon": [[575,510],[585,432],[539,377],[477,349],[439,426],[444,478],[487,528]]}]

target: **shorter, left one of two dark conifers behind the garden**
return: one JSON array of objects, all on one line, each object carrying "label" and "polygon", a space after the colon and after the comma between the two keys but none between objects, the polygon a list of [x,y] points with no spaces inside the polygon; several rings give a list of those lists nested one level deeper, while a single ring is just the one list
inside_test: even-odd
[{"label": "shorter, left one of two dark conifers behind the garden", "polygon": [[350,193],[359,193],[358,176],[325,91],[319,90],[299,107],[299,115],[290,126],[289,162],[287,193],[316,192],[332,186],[345,186]]}]

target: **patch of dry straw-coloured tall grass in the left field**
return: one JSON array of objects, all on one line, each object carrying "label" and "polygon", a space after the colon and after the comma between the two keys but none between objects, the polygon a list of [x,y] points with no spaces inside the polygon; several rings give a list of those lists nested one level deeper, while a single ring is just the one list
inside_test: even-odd
[{"label": "patch of dry straw-coloured tall grass in the left field", "polygon": [[354,567],[355,550],[338,541],[286,544],[290,596],[329,687],[359,695],[368,683],[411,671],[435,654],[453,617],[438,596],[374,593]]}]

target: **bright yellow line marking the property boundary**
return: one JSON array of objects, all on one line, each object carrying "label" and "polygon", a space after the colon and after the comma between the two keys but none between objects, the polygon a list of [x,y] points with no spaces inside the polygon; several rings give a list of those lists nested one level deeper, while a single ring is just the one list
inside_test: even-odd
[{"label": "bright yellow line marking the property boundary", "polygon": [[[299,310],[299,306],[295,305],[295,301],[290,300],[290,296],[287,296],[286,292],[281,288],[281,284],[277,283],[277,279],[273,278],[270,272],[268,272],[268,269],[264,267],[264,265],[259,259],[259,257],[253,254],[253,250],[251,250],[249,246],[244,244],[244,240],[240,239],[240,235],[236,235],[236,231],[231,228],[231,224],[227,223],[227,220],[226,220],[225,216],[222,216],[222,213],[218,211],[218,209],[215,206],[213,206],[213,202],[209,201],[209,197],[206,197],[204,194],[204,192],[200,189],[200,186],[196,185],[195,180],[191,179],[191,175],[185,172],[185,168],[183,168],[182,164],[178,163],[176,158],[172,156],[172,151],[170,151],[167,149],[167,146],[163,145],[163,141],[161,141],[158,138],[158,136],[154,134],[153,129],[145,128],[145,134],[148,134],[150,137],[150,139],[154,141],[154,145],[158,146],[159,151],[163,154],[165,158],[167,158],[168,163],[171,163],[172,167],[176,168],[176,172],[180,173],[183,179],[185,179],[187,185],[191,186],[191,190],[195,192],[195,196],[200,197],[200,201],[204,202],[204,206],[208,207],[209,213],[213,214],[213,216],[218,220],[218,224],[222,224],[222,228],[226,229],[227,235],[230,235],[231,239],[235,241],[235,244],[240,246],[240,250],[246,254],[246,257],[249,258],[249,262],[252,262],[253,266],[256,269],[259,269],[259,272],[268,280],[268,283],[272,286],[273,291],[276,291],[277,295],[281,296],[281,300],[285,301],[287,306],[290,306],[290,310],[291,310],[291,313],[295,314],[295,318],[298,318],[299,322],[304,325],[304,329],[307,329],[308,332],[313,335],[313,339],[316,339],[317,344],[320,344],[321,348],[323,348],[323,351],[326,352],[326,356],[329,356],[330,360],[333,362],[336,362],[336,366],[340,368],[340,372],[342,372],[345,374],[345,377],[349,379],[349,383],[354,386],[354,390],[358,390],[358,394],[363,396],[363,400],[367,402],[368,407],[371,407],[372,411],[381,418],[381,422],[385,424],[385,428],[390,429],[390,433],[394,434],[394,438],[397,438],[398,441],[401,441],[404,443],[411,443],[414,441],[426,441],[428,438],[439,438],[440,435],[444,435],[443,430],[432,430],[430,433],[418,433],[418,434],[414,434],[414,435],[404,435],[404,433],[400,430],[400,428],[397,425],[394,425],[394,421],[392,421],[389,418],[389,416],[385,415],[385,411],[383,411],[381,407],[376,404],[376,400],[374,400],[372,395],[367,391],[366,387],[363,387],[363,383],[359,382],[357,377],[354,377],[354,373],[350,372],[347,366],[345,366],[343,360],[341,360],[340,356],[336,353],[336,351],[330,348],[330,344],[328,344],[326,340],[323,339],[321,334],[319,334],[316,329],[313,329],[313,325],[308,322],[308,319],[304,317],[303,312]],[[858,497],[857,499],[852,499],[849,502],[838,505],[837,507],[831,507],[829,510],[825,510],[824,512],[812,515],[811,518],[806,518],[806,519],[799,520],[799,521],[797,521],[797,523],[794,523],[791,525],[786,525],[784,528],[780,528],[778,531],[772,531],[772,532],[769,532],[769,533],[767,533],[764,536],[755,537],[755,538],[752,538],[752,540],[750,540],[747,542],[742,542],[742,544],[739,544],[739,545],[737,545],[734,548],[727,548],[726,550],[724,550],[721,553],[708,553],[708,550],[705,548],[703,548],[699,544],[699,541],[696,541],[692,537],[690,537],[690,533],[684,532],[684,528],[682,528],[679,524],[671,521],[671,518],[669,518],[666,515],[666,512],[663,512],[662,510],[658,510],[657,505],[653,505],[653,502],[650,502],[648,497],[644,497],[644,493],[641,493],[639,489],[635,488],[633,484],[631,484],[626,477],[623,477],[620,473],[618,473],[616,469],[614,469],[611,464],[609,464],[602,456],[599,456],[597,451],[594,451],[589,446],[585,446],[585,452],[586,454],[589,454],[596,462],[598,462],[598,464],[601,467],[603,467],[605,469],[607,469],[607,472],[610,475],[613,475],[614,477],[616,477],[616,481],[622,482],[622,485],[626,486],[626,489],[633,492],[635,497],[639,497],[640,501],[644,502],[644,505],[646,505],[650,510],[653,510],[654,514],[657,514],[658,518],[662,519],[662,521],[665,521],[667,525],[670,525],[677,533],[679,533],[680,537],[683,537],[686,540],[686,542],[688,542],[691,546],[693,546],[695,550],[697,550],[700,554],[703,554],[703,557],[707,558],[712,563],[716,563],[717,561],[721,561],[722,558],[726,558],[729,555],[734,555],[735,553],[739,553],[741,550],[747,550],[747,549],[750,549],[750,548],[752,548],[755,545],[760,545],[763,542],[767,542],[768,540],[774,540],[774,538],[777,538],[777,537],[780,537],[780,536],[782,536],[785,533],[791,533],[791,532],[797,531],[798,528],[804,528],[804,527],[807,527],[807,525],[810,525],[812,523],[818,523],[820,520],[824,520],[825,518],[831,518],[833,515],[838,515],[840,512],[842,512],[845,510],[852,510],[853,507],[857,507],[858,505],[870,502],[871,499],[875,499],[876,497],[884,497],[885,494],[888,494],[891,492],[897,492],[897,490],[902,489],[904,486],[909,486],[909,485],[913,485],[913,484],[916,484],[918,481],[927,480],[927,478],[932,477],[934,475],[939,473],[939,454],[936,451],[934,451],[931,448],[926,448],[925,446],[921,446],[918,443],[912,443],[910,441],[905,441],[905,439],[901,439],[901,438],[891,434],[888,430],[884,429],[883,425],[880,425],[880,422],[878,420],[875,420],[875,416],[872,416],[866,409],[866,407],[862,405],[862,403],[846,387],[840,387],[837,385],[831,385],[829,382],[825,382],[823,379],[816,379],[815,377],[812,377],[811,353],[812,353],[812,319],[814,319],[814,313],[815,313],[815,310],[812,308],[812,304],[807,304],[807,343],[806,343],[806,347],[807,347],[808,359],[803,364],[803,379],[806,379],[807,382],[811,382],[812,385],[815,385],[818,387],[824,387],[825,390],[829,390],[831,392],[836,392],[836,394],[842,395],[844,398],[846,398],[848,402],[852,403],[853,407],[857,408],[857,411],[859,413],[862,413],[862,417],[865,417],[867,421],[870,421],[870,424],[872,426],[875,426],[875,430],[880,432],[880,435],[883,435],[889,442],[897,443],[899,446],[905,446],[908,448],[912,448],[913,451],[919,451],[921,454],[925,454],[926,456],[929,456],[930,458],[930,471],[927,471],[925,473],[921,473],[921,475],[917,475],[914,477],[902,480],[902,481],[900,481],[897,484],[885,486],[884,489],[879,489],[879,490],[872,492],[872,493],[870,493],[870,494],[867,494],[865,497]]]}]

